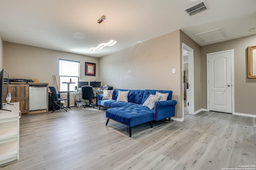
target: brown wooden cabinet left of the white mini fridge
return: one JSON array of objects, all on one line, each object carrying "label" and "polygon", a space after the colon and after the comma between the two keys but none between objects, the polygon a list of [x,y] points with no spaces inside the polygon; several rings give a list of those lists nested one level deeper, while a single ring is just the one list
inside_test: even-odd
[{"label": "brown wooden cabinet left of the white mini fridge", "polygon": [[[7,90],[7,89],[5,89]],[[9,84],[8,92],[11,94],[11,102],[20,102],[21,113],[29,112],[29,85],[28,84]],[[4,93],[6,95],[6,93]],[[4,100],[6,96],[4,96]],[[4,101],[6,102],[6,100]]]}]

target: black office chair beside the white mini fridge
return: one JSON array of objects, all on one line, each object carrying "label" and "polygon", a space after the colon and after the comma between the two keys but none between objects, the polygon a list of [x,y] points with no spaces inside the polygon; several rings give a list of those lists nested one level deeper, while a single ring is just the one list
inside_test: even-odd
[{"label": "black office chair beside the white mini fridge", "polygon": [[62,101],[68,100],[68,99],[64,99],[60,97],[60,94],[57,94],[55,87],[49,87],[50,91],[52,92],[52,100],[53,100],[53,104],[52,104],[52,112],[54,112],[56,109],[60,108],[60,109],[64,109],[65,111],[68,111],[67,107],[65,107],[62,103]]}]

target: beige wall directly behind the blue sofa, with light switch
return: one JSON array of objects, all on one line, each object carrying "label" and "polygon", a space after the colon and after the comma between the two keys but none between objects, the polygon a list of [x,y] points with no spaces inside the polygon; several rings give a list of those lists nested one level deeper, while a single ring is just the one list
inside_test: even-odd
[{"label": "beige wall directly behind the blue sofa, with light switch", "polygon": [[172,90],[176,117],[182,117],[180,30],[101,57],[99,64],[102,83],[114,88]]}]

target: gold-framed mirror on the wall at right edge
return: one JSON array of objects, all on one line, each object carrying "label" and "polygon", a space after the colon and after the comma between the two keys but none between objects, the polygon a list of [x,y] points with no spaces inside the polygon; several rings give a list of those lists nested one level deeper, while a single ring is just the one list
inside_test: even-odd
[{"label": "gold-framed mirror on the wall at right edge", "polygon": [[256,78],[256,45],[248,47],[248,78]]}]

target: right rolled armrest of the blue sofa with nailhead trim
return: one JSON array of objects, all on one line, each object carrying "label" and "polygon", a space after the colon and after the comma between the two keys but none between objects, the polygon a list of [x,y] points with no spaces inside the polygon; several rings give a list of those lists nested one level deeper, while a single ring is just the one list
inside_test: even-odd
[{"label": "right rolled armrest of the blue sofa with nailhead trim", "polygon": [[159,101],[155,103],[154,120],[162,120],[175,116],[176,100]]}]

